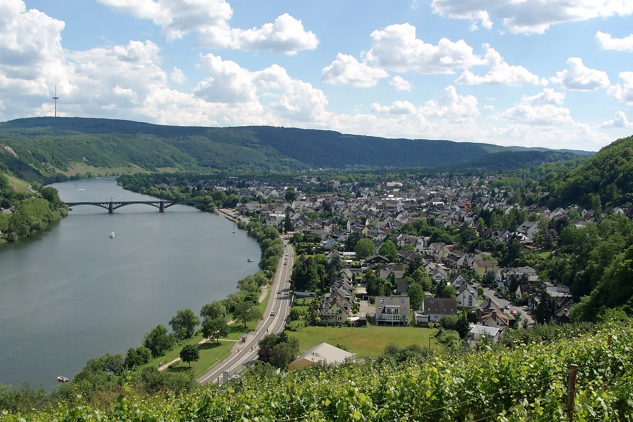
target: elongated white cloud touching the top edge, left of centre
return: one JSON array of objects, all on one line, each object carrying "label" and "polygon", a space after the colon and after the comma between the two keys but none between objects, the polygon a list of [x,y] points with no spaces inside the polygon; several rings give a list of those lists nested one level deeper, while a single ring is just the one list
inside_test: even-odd
[{"label": "elongated white cloud touching the top edge, left of centre", "polygon": [[225,0],[98,0],[106,6],[141,19],[151,19],[168,40],[196,34],[208,48],[272,51],[297,54],[313,50],[316,35],[304,29],[300,20],[284,13],[261,28],[231,28],[233,15]]}]

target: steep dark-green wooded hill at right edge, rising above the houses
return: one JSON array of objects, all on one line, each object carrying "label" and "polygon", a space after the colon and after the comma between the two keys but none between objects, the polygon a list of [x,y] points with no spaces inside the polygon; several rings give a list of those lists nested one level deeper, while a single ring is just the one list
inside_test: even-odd
[{"label": "steep dark-green wooded hill at right edge, rising above the houses", "polygon": [[633,202],[633,136],[618,139],[549,187],[560,204],[622,206]]}]

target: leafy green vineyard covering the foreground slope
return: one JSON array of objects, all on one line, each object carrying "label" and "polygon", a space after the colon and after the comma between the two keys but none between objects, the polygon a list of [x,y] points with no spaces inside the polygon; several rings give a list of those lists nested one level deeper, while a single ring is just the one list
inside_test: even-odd
[{"label": "leafy green vineyard covering the foreground slope", "polygon": [[60,403],[3,421],[574,421],[633,420],[633,325],[608,323],[577,337],[484,347],[406,363],[313,366],[286,376],[242,376],[219,389],[134,395],[114,403]]}]

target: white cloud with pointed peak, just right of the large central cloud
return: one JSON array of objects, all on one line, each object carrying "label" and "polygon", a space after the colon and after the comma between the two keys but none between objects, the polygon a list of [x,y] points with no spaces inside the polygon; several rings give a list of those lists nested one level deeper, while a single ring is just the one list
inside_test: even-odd
[{"label": "white cloud with pointed peak, just right of the large central cloud", "polygon": [[547,81],[539,81],[539,77],[534,75],[523,66],[508,65],[494,48],[487,47],[485,63],[490,67],[490,71],[484,76],[475,75],[470,70],[465,70],[460,77],[455,80],[457,84],[465,85],[546,85]]}]

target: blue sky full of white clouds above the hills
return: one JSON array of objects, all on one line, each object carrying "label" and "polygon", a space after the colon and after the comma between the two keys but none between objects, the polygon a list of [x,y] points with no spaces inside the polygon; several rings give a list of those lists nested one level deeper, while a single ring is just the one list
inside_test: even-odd
[{"label": "blue sky full of white clouds above the hills", "polygon": [[0,0],[0,121],[271,125],[598,151],[633,0]]}]

